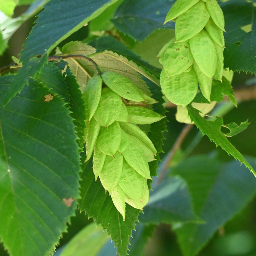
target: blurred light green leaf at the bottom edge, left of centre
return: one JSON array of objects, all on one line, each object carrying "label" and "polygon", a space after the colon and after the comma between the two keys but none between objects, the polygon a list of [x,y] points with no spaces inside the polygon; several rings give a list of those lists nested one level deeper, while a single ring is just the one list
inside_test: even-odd
[{"label": "blurred light green leaf at the bottom edge, left of centre", "polygon": [[[102,227],[91,223],[79,231],[65,246],[60,256],[96,256],[110,236]],[[90,245],[90,246],[88,246]]]}]

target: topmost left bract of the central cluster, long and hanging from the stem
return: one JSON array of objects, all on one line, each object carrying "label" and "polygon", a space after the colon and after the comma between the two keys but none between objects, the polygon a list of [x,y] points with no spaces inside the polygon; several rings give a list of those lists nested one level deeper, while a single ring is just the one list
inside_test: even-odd
[{"label": "topmost left bract of the central cluster, long and hanging from the stem", "polygon": [[94,115],[101,96],[101,84],[102,80],[100,75],[93,76],[86,84],[84,90],[84,105],[86,111],[87,120],[91,120]]}]

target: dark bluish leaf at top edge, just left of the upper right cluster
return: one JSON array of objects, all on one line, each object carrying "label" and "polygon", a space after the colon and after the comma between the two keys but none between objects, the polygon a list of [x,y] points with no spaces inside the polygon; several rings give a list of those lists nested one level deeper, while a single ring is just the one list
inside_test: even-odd
[{"label": "dark bluish leaf at top edge, just left of the upper right cluster", "polygon": [[155,29],[174,29],[174,22],[163,25],[171,6],[170,1],[125,0],[117,8],[111,21],[124,34],[142,41]]}]

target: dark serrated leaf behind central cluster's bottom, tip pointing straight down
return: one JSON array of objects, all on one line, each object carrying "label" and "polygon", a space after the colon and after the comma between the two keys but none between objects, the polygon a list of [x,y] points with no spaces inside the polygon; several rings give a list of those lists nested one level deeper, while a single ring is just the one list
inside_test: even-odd
[{"label": "dark serrated leaf behind central cluster's bottom, tip pointing straight down", "polygon": [[81,199],[79,200],[80,210],[85,210],[89,217],[93,217],[108,234],[115,240],[117,252],[120,256],[126,256],[129,244],[129,236],[132,235],[135,221],[138,221],[140,210],[126,204],[125,220],[117,211],[108,193],[102,187],[100,180],[95,181],[92,171],[92,164],[83,166],[81,175]]}]

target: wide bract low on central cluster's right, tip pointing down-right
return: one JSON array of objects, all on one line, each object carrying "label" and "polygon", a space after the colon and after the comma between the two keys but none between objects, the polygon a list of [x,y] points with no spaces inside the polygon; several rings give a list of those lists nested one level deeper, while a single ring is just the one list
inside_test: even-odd
[{"label": "wide bract low on central cluster's right, tip pointing down-right", "polygon": [[129,140],[128,146],[123,151],[123,156],[126,162],[141,176],[151,179],[148,161],[140,147],[134,146],[133,142]]}]

